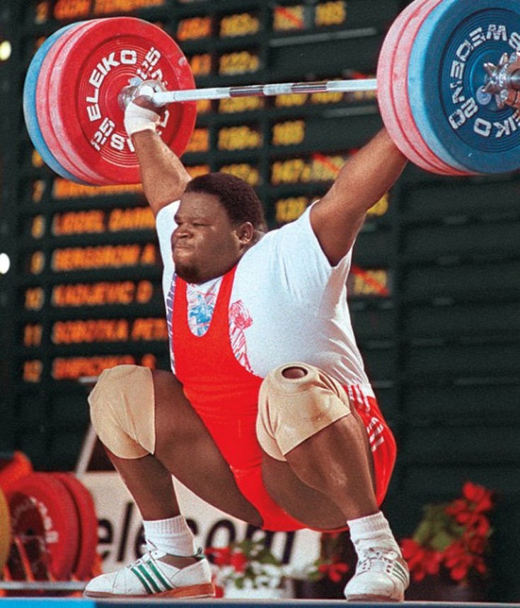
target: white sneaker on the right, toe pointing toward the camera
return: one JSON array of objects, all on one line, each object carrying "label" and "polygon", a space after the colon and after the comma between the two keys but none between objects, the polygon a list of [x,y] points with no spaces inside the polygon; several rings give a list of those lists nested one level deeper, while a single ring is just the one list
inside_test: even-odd
[{"label": "white sneaker on the right, toe pointing toward the camera", "polygon": [[403,602],[410,584],[408,564],[391,549],[361,549],[356,573],[345,587],[348,602]]}]

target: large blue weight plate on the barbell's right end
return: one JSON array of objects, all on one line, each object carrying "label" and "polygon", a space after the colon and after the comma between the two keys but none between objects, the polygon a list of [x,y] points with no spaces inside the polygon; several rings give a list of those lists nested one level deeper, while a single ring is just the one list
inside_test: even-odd
[{"label": "large blue weight plate on the barbell's right end", "polygon": [[444,0],[424,20],[410,52],[412,114],[429,148],[468,173],[520,167],[520,112],[481,95],[484,64],[520,50],[520,4]]}]

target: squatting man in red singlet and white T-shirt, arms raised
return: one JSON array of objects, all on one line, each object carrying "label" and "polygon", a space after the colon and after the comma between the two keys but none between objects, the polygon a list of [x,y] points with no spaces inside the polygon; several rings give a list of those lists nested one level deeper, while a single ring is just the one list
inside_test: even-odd
[{"label": "squatting man in red singlet and white T-shirt, arms raised", "polygon": [[148,551],[85,594],[212,595],[173,475],[265,530],[348,527],[358,563],[347,600],[403,600],[408,568],[380,510],[395,441],[354,339],[346,281],[366,211],[405,157],[383,129],[303,216],[267,232],[245,182],[190,179],[156,133],[153,89],[138,87],[125,127],[156,216],[173,373],[117,366],[89,397]]}]

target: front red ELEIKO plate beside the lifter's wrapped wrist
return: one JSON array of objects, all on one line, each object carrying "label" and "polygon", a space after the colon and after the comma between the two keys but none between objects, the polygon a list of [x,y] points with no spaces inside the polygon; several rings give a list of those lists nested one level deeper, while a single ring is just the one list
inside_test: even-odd
[{"label": "front red ELEIKO plate beside the lifter's wrapped wrist", "polygon": [[[64,146],[112,183],[139,183],[139,165],[118,95],[129,81],[160,80],[167,89],[195,88],[187,59],[163,30],[133,17],[102,19],[65,42],[50,83],[52,122]],[[192,136],[195,102],[166,107],[158,131],[180,156]]]}]

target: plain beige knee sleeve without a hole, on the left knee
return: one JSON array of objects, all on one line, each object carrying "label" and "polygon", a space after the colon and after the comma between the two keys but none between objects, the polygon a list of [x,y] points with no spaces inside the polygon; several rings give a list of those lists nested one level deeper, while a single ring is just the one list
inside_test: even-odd
[{"label": "plain beige knee sleeve without a hole, on the left knee", "polygon": [[92,426],[120,458],[141,458],[155,449],[155,399],[151,371],[116,366],[101,373],[88,396]]}]

